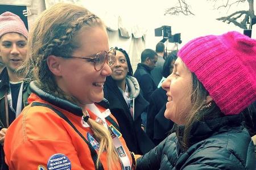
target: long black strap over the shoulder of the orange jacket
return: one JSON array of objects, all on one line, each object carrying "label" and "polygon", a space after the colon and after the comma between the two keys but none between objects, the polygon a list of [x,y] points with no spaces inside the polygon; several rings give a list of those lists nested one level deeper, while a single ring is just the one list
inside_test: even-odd
[{"label": "long black strap over the shoulder of the orange jacket", "polygon": [[[57,110],[56,108],[53,108],[51,105],[49,104],[46,104],[46,103],[39,103],[39,102],[33,102],[31,104],[31,107],[34,107],[34,106],[41,106],[41,107],[46,107],[46,108],[49,108],[51,109],[53,112],[55,112],[56,114],[58,114],[61,118],[63,118],[69,125],[71,125],[71,127],[76,131],[77,134],[80,135],[80,137],[84,140],[84,142],[88,145],[89,149],[90,149],[90,155],[92,156],[92,159],[93,159],[93,163],[94,163],[94,166],[95,166],[95,169],[97,169],[96,167],[96,162],[97,162],[97,152],[94,150],[94,148],[92,147],[92,145],[90,145],[90,143],[85,139],[85,137],[80,133],[79,130],[76,129],[76,127],[72,124],[72,122],[70,120],[68,120],[68,118],[63,114],[61,113],[59,110]],[[86,159],[86,158],[85,158]],[[101,162],[99,161],[98,163],[98,170],[104,170]]]}]

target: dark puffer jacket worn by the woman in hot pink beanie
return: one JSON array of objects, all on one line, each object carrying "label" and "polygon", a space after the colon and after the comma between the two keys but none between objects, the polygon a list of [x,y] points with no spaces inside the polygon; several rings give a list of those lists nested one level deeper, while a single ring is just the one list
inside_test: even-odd
[{"label": "dark puffer jacket worn by the woman in hot pink beanie", "polygon": [[254,169],[254,146],[241,126],[241,115],[197,122],[191,142],[182,152],[175,133],[137,159],[139,169]]}]

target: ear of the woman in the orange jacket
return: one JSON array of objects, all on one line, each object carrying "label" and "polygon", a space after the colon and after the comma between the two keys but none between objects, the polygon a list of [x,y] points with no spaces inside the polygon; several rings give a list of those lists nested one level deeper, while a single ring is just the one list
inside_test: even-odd
[{"label": "ear of the woman in the orange jacket", "polygon": [[60,69],[61,59],[62,59],[61,57],[56,57],[53,55],[48,56],[46,59],[49,70],[56,76],[61,76],[61,69]]}]

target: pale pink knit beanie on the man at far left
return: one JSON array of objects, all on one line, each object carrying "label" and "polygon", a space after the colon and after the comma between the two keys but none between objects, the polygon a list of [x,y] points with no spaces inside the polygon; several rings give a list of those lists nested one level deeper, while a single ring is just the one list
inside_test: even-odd
[{"label": "pale pink knit beanie on the man at far left", "polygon": [[20,19],[18,15],[7,11],[0,15],[0,37],[10,32],[20,33],[26,37],[26,39],[28,36],[27,28],[22,19]]}]

